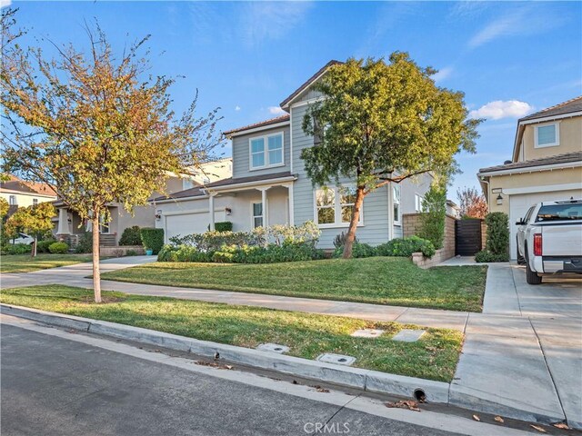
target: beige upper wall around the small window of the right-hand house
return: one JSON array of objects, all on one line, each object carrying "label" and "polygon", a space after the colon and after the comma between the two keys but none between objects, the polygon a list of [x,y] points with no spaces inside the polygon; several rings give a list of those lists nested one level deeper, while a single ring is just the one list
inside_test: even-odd
[{"label": "beige upper wall around the small window of the right-hand house", "polygon": [[[536,126],[554,123],[558,124],[559,145],[536,148]],[[518,154],[518,162],[540,159],[543,157],[554,156],[556,154],[579,152],[582,150],[582,116],[544,123],[526,124],[523,133],[523,143],[521,146],[522,150],[521,153]]]}]

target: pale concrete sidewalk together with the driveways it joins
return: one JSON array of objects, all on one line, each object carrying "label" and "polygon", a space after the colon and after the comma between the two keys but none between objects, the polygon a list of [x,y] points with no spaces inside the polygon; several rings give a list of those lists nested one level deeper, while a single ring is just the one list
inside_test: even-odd
[{"label": "pale concrete sidewalk together with the driveways it joins", "polygon": [[[111,259],[103,271],[153,262]],[[62,283],[92,288],[89,264],[3,274],[2,287]],[[582,428],[582,288],[576,281],[525,282],[523,268],[489,265],[483,313],[335,302],[244,292],[103,281],[104,290],[205,302],[244,304],[372,321],[415,323],[466,333],[451,384],[451,403],[526,421],[563,421]],[[467,406],[467,404],[469,404]]]}]

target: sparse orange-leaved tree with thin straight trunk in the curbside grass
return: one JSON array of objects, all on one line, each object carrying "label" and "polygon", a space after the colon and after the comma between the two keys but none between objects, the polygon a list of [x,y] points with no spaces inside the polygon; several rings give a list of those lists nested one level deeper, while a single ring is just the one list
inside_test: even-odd
[{"label": "sparse orange-leaved tree with thin straight trunk in the curbside grass", "polygon": [[[9,15],[10,14],[10,15]],[[101,302],[99,223],[108,203],[126,210],[163,191],[170,173],[208,157],[216,144],[216,110],[196,118],[196,98],[182,116],[170,110],[174,79],[146,74],[147,37],[116,57],[97,26],[87,49],[54,45],[56,58],[24,49],[3,11],[0,81],[4,92],[5,171],[55,187],[59,198],[93,226],[93,284]]]}]

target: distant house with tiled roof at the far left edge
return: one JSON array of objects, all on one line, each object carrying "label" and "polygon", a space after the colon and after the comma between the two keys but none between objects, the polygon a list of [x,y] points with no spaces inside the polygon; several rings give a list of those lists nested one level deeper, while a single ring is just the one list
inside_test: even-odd
[{"label": "distant house with tiled roof at the far left edge", "polygon": [[26,182],[15,175],[9,175],[7,181],[0,182],[0,197],[8,202],[9,214],[12,214],[18,207],[54,202],[56,193],[48,184]]}]

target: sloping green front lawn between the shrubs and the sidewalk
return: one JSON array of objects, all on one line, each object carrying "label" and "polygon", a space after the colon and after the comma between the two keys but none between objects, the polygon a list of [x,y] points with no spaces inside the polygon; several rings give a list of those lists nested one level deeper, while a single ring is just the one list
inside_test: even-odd
[{"label": "sloping green front lawn between the shrubs and the sidewalk", "polygon": [[487,266],[422,270],[406,258],[232,264],[148,263],[103,278],[346,302],[481,312]]}]

